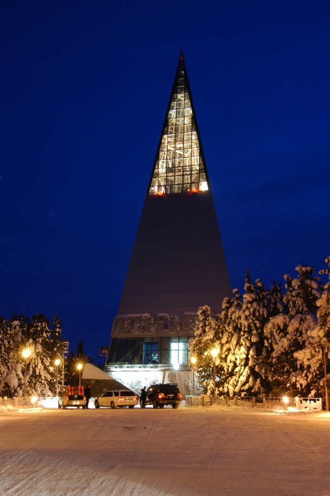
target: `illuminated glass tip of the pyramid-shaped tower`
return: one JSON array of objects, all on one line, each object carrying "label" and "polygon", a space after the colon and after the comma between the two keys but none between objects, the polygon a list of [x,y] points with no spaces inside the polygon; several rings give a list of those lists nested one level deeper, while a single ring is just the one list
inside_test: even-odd
[{"label": "illuminated glass tip of the pyramid-shaped tower", "polygon": [[149,195],[209,189],[185,71],[179,70]]}]

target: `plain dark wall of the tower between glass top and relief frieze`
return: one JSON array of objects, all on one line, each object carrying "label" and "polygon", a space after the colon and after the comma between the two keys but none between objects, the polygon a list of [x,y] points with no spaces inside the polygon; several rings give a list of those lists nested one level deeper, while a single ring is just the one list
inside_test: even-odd
[{"label": "plain dark wall of the tower between glass top and relief frieze", "polygon": [[211,191],[146,196],[118,315],[219,313],[231,293]]}]

